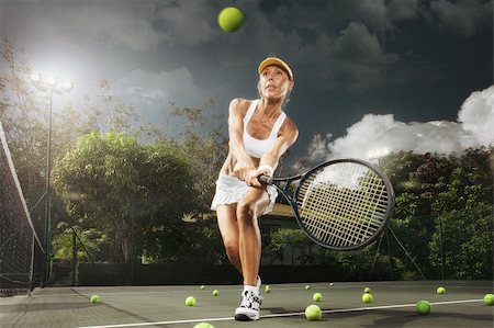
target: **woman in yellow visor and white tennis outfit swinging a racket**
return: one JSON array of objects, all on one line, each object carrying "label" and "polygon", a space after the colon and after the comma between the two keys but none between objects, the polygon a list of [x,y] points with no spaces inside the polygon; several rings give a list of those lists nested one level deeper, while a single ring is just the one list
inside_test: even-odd
[{"label": "woman in yellow visor and white tennis outfit swinging a racket", "polygon": [[261,297],[259,267],[261,237],[258,218],[272,211],[274,186],[258,177],[272,177],[280,157],[296,140],[299,131],[282,108],[293,89],[293,72],[280,58],[268,57],[258,67],[260,99],[232,100],[228,109],[229,151],[216,181],[211,205],[226,253],[244,278],[236,320],[257,320]]}]

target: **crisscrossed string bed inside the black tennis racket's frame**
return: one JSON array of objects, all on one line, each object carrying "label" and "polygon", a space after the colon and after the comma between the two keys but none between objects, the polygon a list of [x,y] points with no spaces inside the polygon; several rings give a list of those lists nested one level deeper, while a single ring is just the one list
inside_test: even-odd
[{"label": "crisscrossed string bed inside the black tennis racket's frame", "polygon": [[301,220],[326,245],[348,247],[371,238],[389,207],[382,178],[357,162],[327,166],[305,179],[297,194]]}]

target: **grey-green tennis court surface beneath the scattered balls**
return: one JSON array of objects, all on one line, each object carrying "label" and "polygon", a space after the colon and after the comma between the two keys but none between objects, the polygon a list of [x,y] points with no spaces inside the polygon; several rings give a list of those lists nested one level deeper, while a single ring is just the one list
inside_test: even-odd
[{"label": "grey-green tennis court surface beneath the scattered balls", "polygon": [[[233,319],[240,285],[116,286],[36,289],[31,296],[0,298],[0,327],[493,327],[494,306],[483,296],[493,293],[492,281],[329,282],[272,284],[258,321]],[[371,287],[373,303],[361,301]],[[437,294],[444,286],[446,294]],[[213,296],[213,290],[220,295]],[[315,292],[322,302],[312,301]],[[101,304],[91,304],[98,294]],[[188,296],[197,305],[186,306]],[[418,315],[415,304],[427,299],[429,315]],[[323,309],[319,321],[308,321],[305,307]]]}]

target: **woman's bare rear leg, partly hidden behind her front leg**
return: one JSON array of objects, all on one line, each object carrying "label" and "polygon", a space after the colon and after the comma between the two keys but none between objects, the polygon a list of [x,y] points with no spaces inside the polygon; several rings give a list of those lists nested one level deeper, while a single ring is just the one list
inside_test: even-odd
[{"label": "woman's bare rear leg, partly hidden behind her front leg", "polygon": [[242,272],[242,262],[238,247],[237,204],[218,205],[216,208],[217,226],[222,235],[223,245],[229,262]]}]

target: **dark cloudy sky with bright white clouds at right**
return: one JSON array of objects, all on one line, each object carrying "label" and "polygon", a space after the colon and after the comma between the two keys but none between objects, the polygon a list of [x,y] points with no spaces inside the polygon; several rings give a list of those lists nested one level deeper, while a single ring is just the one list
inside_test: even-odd
[{"label": "dark cloudy sky with bright white clouds at right", "polygon": [[[232,4],[246,22],[224,33],[217,13]],[[213,98],[226,114],[232,98],[256,98],[256,67],[276,54],[295,75],[296,154],[494,140],[492,0],[0,0],[0,20],[35,69],[75,81],[76,102],[108,78],[157,124],[170,101]]]}]

